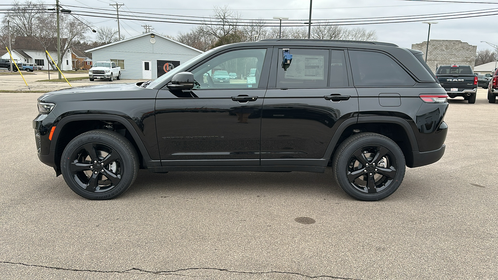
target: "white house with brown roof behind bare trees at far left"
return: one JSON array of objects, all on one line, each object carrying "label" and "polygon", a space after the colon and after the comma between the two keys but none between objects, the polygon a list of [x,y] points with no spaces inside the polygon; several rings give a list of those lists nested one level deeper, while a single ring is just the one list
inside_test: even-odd
[{"label": "white house with brown roof behind bare trees at far left", "polygon": [[[61,39],[61,45],[65,43],[65,39]],[[62,47],[61,47],[62,48]],[[57,39],[50,39],[48,44],[48,53],[57,62]],[[48,69],[48,60],[46,58],[45,48],[34,37],[15,37],[15,43],[12,44],[12,58],[17,63],[36,63],[37,66],[43,67],[43,70]],[[71,52],[67,51],[62,55],[61,70],[72,70]],[[2,59],[10,59],[8,53],[1,56]]]}]

